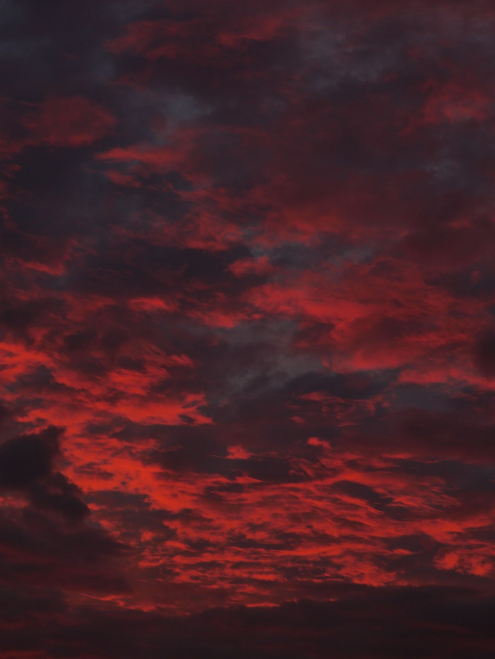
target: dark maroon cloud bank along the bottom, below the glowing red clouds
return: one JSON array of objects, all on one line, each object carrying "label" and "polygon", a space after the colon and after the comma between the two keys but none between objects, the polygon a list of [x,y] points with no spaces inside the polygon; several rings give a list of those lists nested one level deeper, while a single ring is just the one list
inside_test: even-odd
[{"label": "dark maroon cloud bank along the bottom, below the glowing red clouds", "polygon": [[[213,609],[187,619],[145,612],[96,616],[90,608],[76,608],[57,635],[49,623],[42,627],[43,617],[36,621],[24,645],[46,648],[55,656],[84,650],[98,659],[127,658],[143,650],[150,658],[168,652],[174,659],[233,653],[246,659],[295,659],[325,657],[329,646],[339,659],[430,659],[439,652],[453,658],[469,653],[485,659],[493,650],[490,594],[441,587],[382,592],[364,587],[345,592],[336,585],[334,595],[333,602],[302,600],[268,609]],[[33,597],[29,605],[36,611],[41,602]],[[355,625],[360,626],[359,634],[353,631]],[[7,636],[15,638],[12,632]]]}]

